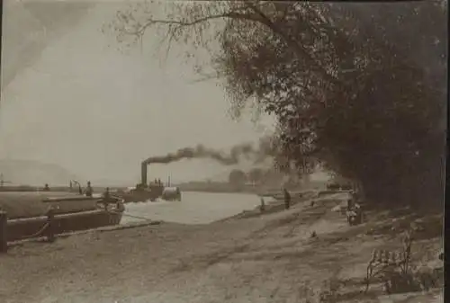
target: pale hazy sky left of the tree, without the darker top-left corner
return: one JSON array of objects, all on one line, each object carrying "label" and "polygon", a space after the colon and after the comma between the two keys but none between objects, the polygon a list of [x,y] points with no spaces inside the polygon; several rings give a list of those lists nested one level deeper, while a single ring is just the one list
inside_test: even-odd
[{"label": "pale hazy sky left of the tree, without the darker top-left corner", "polygon": [[[230,147],[261,136],[249,119],[233,122],[213,83],[191,84],[180,62],[108,49],[100,28],[115,13],[103,2],[4,87],[0,158],[54,163],[86,179],[136,183],[140,161],[202,143]],[[8,32],[4,32],[8,35]],[[8,58],[5,58],[6,60]],[[229,170],[209,161],[154,165],[150,177],[202,179]]]}]

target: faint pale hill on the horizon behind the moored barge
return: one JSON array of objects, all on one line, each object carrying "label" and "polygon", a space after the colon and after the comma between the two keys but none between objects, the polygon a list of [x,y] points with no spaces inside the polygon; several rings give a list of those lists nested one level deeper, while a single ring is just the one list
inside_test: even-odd
[{"label": "faint pale hill on the horizon behind the moored barge", "polygon": [[4,185],[67,185],[69,180],[79,180],[76,174],[59,165],[44,164],[31,160],[0,160],[0,173]]}]

